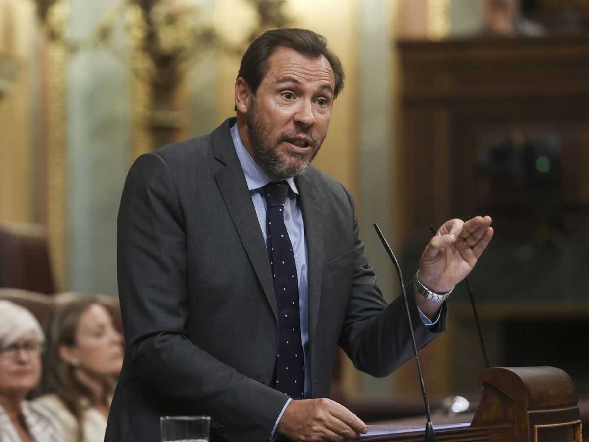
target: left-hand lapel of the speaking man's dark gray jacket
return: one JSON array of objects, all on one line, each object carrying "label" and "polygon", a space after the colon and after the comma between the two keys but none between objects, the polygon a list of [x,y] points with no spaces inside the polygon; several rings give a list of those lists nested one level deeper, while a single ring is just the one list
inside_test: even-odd
[{"label": "left-hand lapel of the speaking man's dark gray jacket", "polygon": [[268,252],[264,245],[262,232],[260,232],[256,209],[254,209],[252,197],[247,189],[246,177],[233,147],[233,140],[231,140],[229,133],[231,123],[231,119],[225,121],[211,134],[215,156],[217,160],[225,164],[224,167],[217,171],[215,179],[241,243],[250,262],[252,262],[260,285],[262,285],[264,295],[266,295],[274,312],[274,317],[278,321],[278,308],[276,295],[274,295],[274,281],[268,260]]}]

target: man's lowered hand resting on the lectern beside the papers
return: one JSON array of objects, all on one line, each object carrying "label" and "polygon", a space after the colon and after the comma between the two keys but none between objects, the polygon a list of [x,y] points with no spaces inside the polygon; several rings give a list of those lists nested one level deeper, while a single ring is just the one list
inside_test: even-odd
[{"label": "man's lowered hand resting on the lectern beside the papers", "polygon": [[368,428],[348,408],[321,398],[290,401],[277,431],[290,440],[315,442],[356,439]]}]

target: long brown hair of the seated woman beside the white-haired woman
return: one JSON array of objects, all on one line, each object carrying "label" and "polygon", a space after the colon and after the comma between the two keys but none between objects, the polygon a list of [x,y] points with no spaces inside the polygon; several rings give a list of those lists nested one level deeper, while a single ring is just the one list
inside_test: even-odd
[{"label": "long brown hair of the seated woman beside the white-haired woman", "polygon": [[82,422],[85,410],[84,402],[92,405],[108,405],[116,382],[114,378],[100,377],[98,380],[102,383],[104,394],[99,404],[93,404],[90,389],[74,375],[75,367],[67,364],[59,355],[59,347],[62,345],[68,347],[76,345],[75,334],[80,316],[94,304],[103,305],[96,296],[77,295],[71,301],[60,305],[45,327],[47,347],[43,359],[44,371],[41,378],[40,394],[54,394],[63,401],[78,423],[77,441],[84,440]]}]

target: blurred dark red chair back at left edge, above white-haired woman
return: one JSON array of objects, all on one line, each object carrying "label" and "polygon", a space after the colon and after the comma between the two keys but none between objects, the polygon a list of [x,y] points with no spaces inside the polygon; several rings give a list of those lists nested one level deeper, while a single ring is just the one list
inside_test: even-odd
[{"label": "blurred dark red chair back at left edge, above white-haired woman", "polygon": [[0,287],[55,293],[44,227],[0,225]]}]

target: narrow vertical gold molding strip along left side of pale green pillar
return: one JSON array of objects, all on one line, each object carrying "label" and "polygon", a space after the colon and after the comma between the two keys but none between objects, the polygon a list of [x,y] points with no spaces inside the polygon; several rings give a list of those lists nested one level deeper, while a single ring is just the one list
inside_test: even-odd
[{"label": "narrow vertical gold molding strip along left side of pale green pillar", "polygon": [[[70,5],[59,0],[49,10],[48,20],[55,29],[65,32]],[[58,43],[47,41],[45,47],[47,65],[45,70],[45,125],[47,161],[46,222],[49,252],[58,291],[65,286],[65,263],[67,242],[67,109],[65,104],[65,81],[67,50]]]}]

